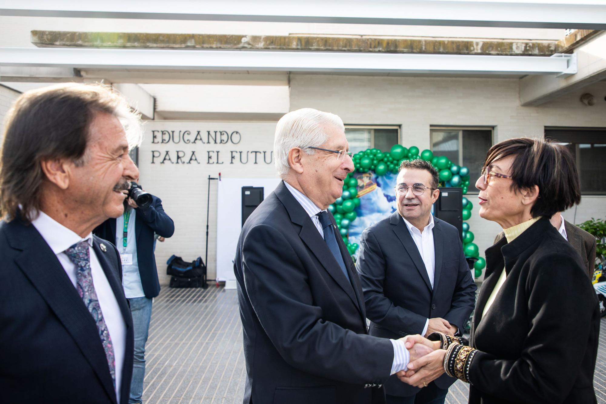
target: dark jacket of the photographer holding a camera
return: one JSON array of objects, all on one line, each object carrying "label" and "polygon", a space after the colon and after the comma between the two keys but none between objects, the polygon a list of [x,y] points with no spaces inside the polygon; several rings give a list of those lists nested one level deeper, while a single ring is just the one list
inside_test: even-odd
[{"label": "dark jacket of the photographer holding a camera", "polygon": [[[137,260],[139,275],[145,297],[152,298],[160,293],[156,257],[153,254],[154,233],[162,237],[171,237],[175,224],[162,208],[160,198],[151,195],[152,202],[147,209],[135,209],[135,241],[137,243]],[[116,219],[108,219],[93,231],[96,235],[116,244]],[[130,236],[129,236],[130,237]],[[121,248],[122,246],[118,246]]]}]

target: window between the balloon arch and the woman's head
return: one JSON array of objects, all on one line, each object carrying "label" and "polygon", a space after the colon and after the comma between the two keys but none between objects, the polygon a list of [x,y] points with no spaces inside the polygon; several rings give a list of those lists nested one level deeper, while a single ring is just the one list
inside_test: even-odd
[{"label": "window between the balloon arch and the woman's head", "polygon": [[434,156],[446,156],[448,160],[469,169],[468,194],[477,194],[474,186],[480,176],[486,152],[493,145],[494,127],[432,126],[430,129],[431,151]]}]

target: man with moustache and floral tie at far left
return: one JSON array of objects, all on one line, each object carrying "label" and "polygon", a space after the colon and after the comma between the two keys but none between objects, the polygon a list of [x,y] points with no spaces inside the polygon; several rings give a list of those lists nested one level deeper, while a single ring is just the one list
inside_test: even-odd
[{"label": "man with moustache and floral tie at far left", "polygon": [[[126,131],[125,131],[126,129]],[[7,403],[128,402],[133,325],[113,244],[138,116],[104,86],[24,93],[0,157],[0,394]]]}]

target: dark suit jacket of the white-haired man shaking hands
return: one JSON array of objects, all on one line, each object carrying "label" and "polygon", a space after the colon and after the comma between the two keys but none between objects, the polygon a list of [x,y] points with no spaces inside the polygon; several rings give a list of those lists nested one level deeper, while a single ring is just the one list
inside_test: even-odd
[{"label": "dark suit jacket of the white-haired man shaking hands", "polygon": [[234,271],[244,331],[244,403],[384,401],[393,346],[367,335],[358,274],[336,239],[353,286],[284,183],[248,217]]}]

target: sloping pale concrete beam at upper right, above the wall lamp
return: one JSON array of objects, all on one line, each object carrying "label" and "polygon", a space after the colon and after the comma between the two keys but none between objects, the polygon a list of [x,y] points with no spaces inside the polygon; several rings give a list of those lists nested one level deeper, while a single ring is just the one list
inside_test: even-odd
[{"label": "sloping pale concrete beam at upper right, above the wall lamp", "polygon": [[567,77],[527,76],[520,80],[520,104],[538,106],[566,93],[606,79],[606,35],[574,50],[577,72]]}]

